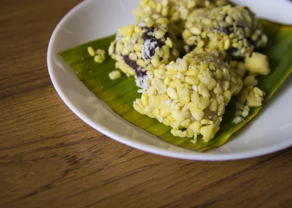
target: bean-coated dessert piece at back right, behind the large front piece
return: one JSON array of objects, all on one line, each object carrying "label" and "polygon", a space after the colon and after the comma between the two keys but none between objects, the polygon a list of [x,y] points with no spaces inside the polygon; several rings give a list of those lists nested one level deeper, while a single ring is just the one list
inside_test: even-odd
[{"label": "bean-coated dessert piece at back right, behind the large front piece", "polygon": [[219,50],[233,57],[248,57],[255,48],[266,46],[255,14],[243,6],[197,9],[190,14],[183,31],[186,52]]}]

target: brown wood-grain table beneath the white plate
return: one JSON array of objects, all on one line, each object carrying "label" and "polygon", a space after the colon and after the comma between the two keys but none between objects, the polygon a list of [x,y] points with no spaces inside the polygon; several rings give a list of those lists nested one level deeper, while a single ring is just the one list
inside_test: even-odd
[{"label": "brown wood-grain table beneath the white plate", "polygon": [[80,0],[1,0],[0,208],[292,207],[292,148],[198,162],[102,135],[62,102],[46,52]]}]

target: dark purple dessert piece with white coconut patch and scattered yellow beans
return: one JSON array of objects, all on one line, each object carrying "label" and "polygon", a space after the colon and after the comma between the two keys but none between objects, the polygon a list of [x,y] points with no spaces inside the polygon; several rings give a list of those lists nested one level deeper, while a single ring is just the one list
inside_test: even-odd
[{"label": "dark purple dessert piece with white coconut patch and scattered yellow beans", "polygon": [[109,55],[122,72],[141,78],[146,75],[146,66],[158,68],[179,57],[176,33],[166,18],[144,16],[135,25],[118,28]]}]

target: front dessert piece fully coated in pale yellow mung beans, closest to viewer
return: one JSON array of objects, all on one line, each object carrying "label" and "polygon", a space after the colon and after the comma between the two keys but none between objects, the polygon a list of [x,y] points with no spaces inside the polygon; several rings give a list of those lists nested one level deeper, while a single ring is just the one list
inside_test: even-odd
[{"label": "front dessert piece fully coated in pale yellow mung beans, closest to viewer", "polygon": [[202,135],[205,142],[219,130],[225,106],[242,88],[241,77],[214,51],[191,52],[176,62],[149,69],[150,86],[134,109],[164,125],[179,137]]}]

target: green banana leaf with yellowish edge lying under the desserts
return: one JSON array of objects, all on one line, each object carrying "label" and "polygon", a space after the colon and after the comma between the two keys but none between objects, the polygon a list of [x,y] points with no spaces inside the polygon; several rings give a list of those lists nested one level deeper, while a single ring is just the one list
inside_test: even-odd
[{"label": "green banana leaf with yellowish edge lying under the desserts", "polygon": [[[269,57],[272,73],[269,76],[258,77],[258,87],[266,92],[263,105],[272,97],[278,87],[292,72],[292,27],[270,21],[260,20],[265,33],[269,37],[268,47],[260,52]],[[169,142],[196,151],[205,151],[223,145],[228,138],[243,125],[250,122],[263,106],[251,108],[250,114],[239,124],[232,123],[235,117],[235,101],[232,100],[225,111],[220,130],[213,140],[205,143],[200,137],[193,144],[191,138],[175,137],[170,133],[171,128],[159,123],[156,119],[141,115],[132,107],[133,101],[141,97],[133,77],[125,74],[117,80],[110,80],[109,73],[115,70],[115,61],[108,54],[105,62],[96,63],[88,54],[87,47],[102,48],[108,51],[110,42],[115,35],[88,42],[77,47],[62,51],[59,55],[69,64],[77,77],[96,97],[105,102],[110,108],[126,121],[147,132]]]}]

